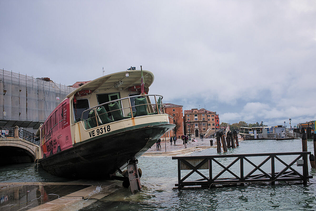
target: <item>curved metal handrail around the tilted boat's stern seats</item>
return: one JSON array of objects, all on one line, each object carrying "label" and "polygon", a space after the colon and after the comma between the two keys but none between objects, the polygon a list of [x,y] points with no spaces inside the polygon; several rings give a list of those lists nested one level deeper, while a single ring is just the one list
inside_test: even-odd
[{"label": "curved metal handrail around the tilted boat's stern seats", "polygon": [[[141,104],[141,105],[155,105],[156,106],[156,110],[158,109],[158,105],[161,105],[162,106],[162,108],[164,107],[164,104],[162,104],[162,103],[157,103],[157,101],[156,101],[156,96],[160,96],[161,97],[161,100],[162,100],[162,98],[163,98],[163,96],[161,96],[161,95],[149,95],[149,94],[147,94],[147,95],[135,95],[135,96],[128,96],[128,97],[123,97],[123,98],[120,98],[120,99],[117,99],[117,100],[112,100],[112,101],[109,101],[109,102],[105,102],[105,103],[102,103],[102,104],[99,104],[99,105],[96,105],[96,106],[94,106],[94,107],[91,107],[91,108],[89,108],[89,109],[86,109],[86,110],[84,110],[83,112],[82,112],[82,114],[81,114],[81,121],[86,121],[86,120],[88,120],[88,119],[91,119],[91,118],[94,118],[94,117],[91,117],[91,118],[88,118],[88,119],[83,119],[83,114],[85,113],[85,112],[87,112],[87,111],[91,111],[92,109],[94,110],[94,112],[95,112],[95,114],[96,114],[96,108],[98,108],[98,107],[100,107],[100,106],[103,106],[103,105],[106,105],[106,104],[110,104],[110,103],[112,103],[112,102],[118,102],[118,101],[122,101],[122,100],[125,100],[125,99],[128,99],[129,100],[129,107],[126,107],[126,108],[120,108],[120,109],[116,109],[116,110],[112,110],[112,111],[118,111],[118,110],[123,110],[123,109],[130,109],[130,111],[131,111],[131,118],[133,117],[133,110],[132,110],[132,108],[133,107],[136,107],[136,106],[139,106],[139,105],[134,105],[134,106],[131,106],[131,98],[137,98],[137,97],[144,97],[144,96],[154,96],[155,97],[155,103],[145,103],[145,104]],[[163,110],[163,109],[162,109]],[[106,111],[106,113],[110,113],[110,112],[112,112],[112,111]],[[157,113],[158,114],[161,114],[161,111],[160,111],[160,109],[159,109],[159,111],[157,110]],[[102,113],[102,114],[104,114],[104,113]],[[99,115],[102,115],[102,114],[99,114]],[[99,115],[95,115],[95,117],[97,117],[97,116],[99,116]],[[98,125],[98,121],[97,121],[97,125]],[[98,125],[99,126],[99,125]]]}]

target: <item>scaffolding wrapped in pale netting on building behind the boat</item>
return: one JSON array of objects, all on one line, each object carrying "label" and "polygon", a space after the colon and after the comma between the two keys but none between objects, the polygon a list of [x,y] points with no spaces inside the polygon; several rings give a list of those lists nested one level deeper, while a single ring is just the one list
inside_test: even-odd
[{"label": "scaffolding wrapped in pale netting on building behind the boat", "polygon": [[[47,78],[45,78],[47,80]],[[75,88],[0,70],[0,126],[38,129]]]}]

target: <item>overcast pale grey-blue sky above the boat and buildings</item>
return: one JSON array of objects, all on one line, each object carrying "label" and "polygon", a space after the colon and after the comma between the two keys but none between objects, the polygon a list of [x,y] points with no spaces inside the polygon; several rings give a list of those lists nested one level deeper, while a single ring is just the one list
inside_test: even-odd
[{"label": "overcast pale grey-blue sky above the boat and buildings", "polygon": [[220,121],[316,120],[316,1],[4,1],[0,68],[71,85],[143,65]]}]

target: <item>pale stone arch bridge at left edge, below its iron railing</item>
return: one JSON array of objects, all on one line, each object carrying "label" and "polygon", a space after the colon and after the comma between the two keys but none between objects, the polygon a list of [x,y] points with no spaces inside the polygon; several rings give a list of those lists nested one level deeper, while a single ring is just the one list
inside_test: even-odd
[{"label": "pale stone arch bridge at left edge, below its iron railing", "polygon": [[0,138],[0,165],[34,162],[39,146],[21,138]]}]

